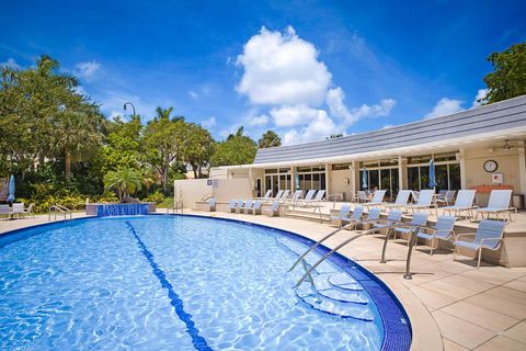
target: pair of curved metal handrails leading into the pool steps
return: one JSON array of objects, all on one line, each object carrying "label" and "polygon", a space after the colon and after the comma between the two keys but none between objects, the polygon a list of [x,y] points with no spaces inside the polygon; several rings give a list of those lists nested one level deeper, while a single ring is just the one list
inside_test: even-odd
[{"label": "pair of curved metal handrails leading into the pool steps", "polygon": [[[373,222],[371,222],[373,223]],[[376,222],[377,223],[377,222]],[[386,249],[387,249],[387,242],[389,240],[389,237],[391,235],[391,231],[396,228],[409,228],[411,229],[410,231],[410,237],[409,237],[409,250],[408,250],[408,257],[407,257],[407,261],[405,261],[405,273],[403,274],[403,278],[407,279],[407,280],[410,280],[412,279],[411,275],[411,254],[413,252],[413,246],[415,245],[416,242],[416,233],[419,233],[424,226],[411,226],[410,224],[404,224],[404,223],[396,223],[396,224],[391,224],[391,225],[387,225],[385,227],[376,227],[376,228],[371,228],[371,229],[368,229],[368,230],[364,230],[364,231],[361,231],[354,236],[352,236],[351,238],[346,239],[346,240],[343,240],[342,242],[340,242],[339,245],[336,245],[331,251],[327,252],[321,259],[319,259],[315,264],[312,264],[306,272],[305,274],[301,276],[301,279],[296,283],[295,287],[298,287],[306,279],[310,278],[311,276],[311,273],[312,271],[321,264],[321,262],[323,262],[325,259],[328,259],[329,257],[331,257],[332,254],[334,254],[338,250],[340,250],[341,248],[343,248],[344,246],[346,246],[347,244],[356,240],[357,238],[359,237],[363,237],[367,234],[373,234],[373,233],[376,233],[380,229],[386,229],[387,230],[387,234],[386,234],[386,237],[385,237],[385,241],[384,241],[384,247],[382,247],[382,250],[381,250],[381,259],[380,259],[380,263],[386,263]],[[344,227],[342,227],[344,228]],[[333,233],[330,233],[328,236],[325,236],[324,238],[322,238],[320,241],[316,242],[311,248],[309,248],[309,250],[307,250],[307,252],[305,252],[304,254],[301,254],[301,258],[300,260],[302,260],[305,258],[305,256],[307,256],[307,253],[309,253],[310,251],[312,251],[312,249],[315,249],[316,247],[318,247],[322,241],[324,241],[325,239],[328,239],[329,237],[331,237],[332,235],[336,234],[338,231],[340,231],[342,228],[340,228],[339,230],[335,230]],[[290,268],[290,270],[293,270],[295,267],[296,267],[297,262]]]}]

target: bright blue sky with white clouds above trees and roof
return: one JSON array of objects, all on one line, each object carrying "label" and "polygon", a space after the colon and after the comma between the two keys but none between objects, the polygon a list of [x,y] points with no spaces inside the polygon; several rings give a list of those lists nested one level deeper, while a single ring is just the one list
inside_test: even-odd
[{"label": "bright blue sky with white clouds above trees and roof", "polygon": [[477,106],[487,57],[526,41],[526,1],[4,1],[0,65],[47,54],[108,117],[130,101],[220,140],[284,144]]}]

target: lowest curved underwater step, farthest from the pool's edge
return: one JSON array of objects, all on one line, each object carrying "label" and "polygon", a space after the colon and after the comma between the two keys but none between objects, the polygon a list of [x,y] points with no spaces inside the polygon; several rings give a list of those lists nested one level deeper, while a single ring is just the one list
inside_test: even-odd
[{"label": "lowest curved underwater step, farthest from the pool's edge", "polygon": [[343,317],[343,318],[353,318],[365,321],[374,321],[375,316],[369,310],[367,305],[346,303],[334,301],[332,298],[327,298],[320,295],[316,288],[312,288],[309,284],[301,284],[296,290],[296,295],[304,301],[306,304],[310,305],[312,308],[327,313],[330,315]]}]

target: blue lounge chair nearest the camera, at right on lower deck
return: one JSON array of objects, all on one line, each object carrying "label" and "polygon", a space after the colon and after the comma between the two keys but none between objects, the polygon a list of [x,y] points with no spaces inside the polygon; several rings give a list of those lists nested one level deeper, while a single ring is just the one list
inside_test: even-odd
[{"label": "blue lounge chair nearest the camera, at right on lower deck", "polygon": [[482,219],[479,223],[479,227],[474,233],[473,241],[460,241],[458,240],[464,236],[472,236],[472,234],[458,234],[457,240],[455,241],[455,254],[458,254],[458,248],[465,248],[468,250],[479,253],[479,259],[477,263],[477,269],[480,268],[480,260],[482,258],[482,249],[487,250],[499,250],[502,242],[504,241],[504,228],[506,227],[506,222],[501,220],[491,220]]}]

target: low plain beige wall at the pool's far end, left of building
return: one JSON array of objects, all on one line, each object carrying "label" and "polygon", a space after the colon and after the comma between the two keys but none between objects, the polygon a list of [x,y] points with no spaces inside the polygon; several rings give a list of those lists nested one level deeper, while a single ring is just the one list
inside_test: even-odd
[{"label": "low plain beige wall at the pool's far end, left of building", "polygon": [[[211,182],[211,185],[208,184],[208,181]],[[176,180],[174,186],[176,201],[182,201],[186,208],[194,208],[196,202],[208,196],[214,196],[217,202],[252,197],[248,178]]]}]

